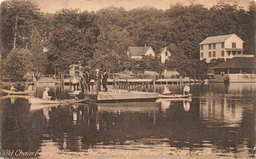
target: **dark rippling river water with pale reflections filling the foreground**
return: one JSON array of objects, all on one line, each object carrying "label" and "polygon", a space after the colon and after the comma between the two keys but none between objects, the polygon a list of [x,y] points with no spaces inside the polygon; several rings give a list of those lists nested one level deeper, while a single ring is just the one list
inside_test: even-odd
[{"label": "dark rippling river water with pale reflections filling the foreground", "polygon": [[255,158],[255,84],[194,84],[191,91],[191,101],[157,103],[29,106],[2,99],[1,156]]}]

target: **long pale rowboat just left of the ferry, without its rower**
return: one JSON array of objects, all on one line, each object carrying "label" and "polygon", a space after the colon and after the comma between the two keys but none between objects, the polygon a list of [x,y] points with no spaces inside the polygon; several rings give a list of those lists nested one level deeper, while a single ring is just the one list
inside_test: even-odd
[{"label": "long pale rowboat just left of the ferry, without its rower", "polygon": [[31,97],[29,98],[30,104],[64,104],[64,103],[80,103],[88,100],[88,97],[84,99],[67,99],[67,100],[48,100]]}]

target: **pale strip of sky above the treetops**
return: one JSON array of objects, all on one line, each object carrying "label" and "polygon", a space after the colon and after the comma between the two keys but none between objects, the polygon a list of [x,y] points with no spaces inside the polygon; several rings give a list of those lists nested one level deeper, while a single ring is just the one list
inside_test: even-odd
[{"label": "pale strip of sky above the treetops", "polygon": [[[234,0],[229,1],[230,4]],[[41,12],[44,13],[55,13],[60,9],[76,9],[79,8],[80,11],[98,11],[99,9],[114,6],[114,7],[124,7],[125,10],[131,10],[138,7],[150,6],[156,9],[166,10],[170,8],[170,5],[175,5],[176,3],[182,3],[184,5],[189,5],[191,2],[204,5],[206,8],[211,8],[213,5],[217,5],[217,0],[37,0]],[[248,10],[249,0],[237,0],[238,6],[244,7],[244,10]]]}]

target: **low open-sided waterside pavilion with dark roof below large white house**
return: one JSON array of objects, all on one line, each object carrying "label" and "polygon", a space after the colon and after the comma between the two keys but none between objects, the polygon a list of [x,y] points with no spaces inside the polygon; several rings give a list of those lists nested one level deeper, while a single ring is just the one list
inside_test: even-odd
[{"label": "low open-sided waterside pavilion with dark roof below large white house", "polygon": [[234,57],[209,69],[214,71],[210,82],[256,82],[256,58]]}]

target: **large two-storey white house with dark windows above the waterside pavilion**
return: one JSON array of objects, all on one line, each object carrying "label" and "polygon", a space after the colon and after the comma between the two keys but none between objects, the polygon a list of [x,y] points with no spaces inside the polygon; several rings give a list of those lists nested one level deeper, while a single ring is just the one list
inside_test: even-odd
[{"label": "large two-storey white house with dark windows above the waterside pavilion", "polygon": [[244,41],[236,34],[211,36],[202,41],[200,45],[200,60],[206,59],[209,63],[212,59],[223,58],[226,60],[233,57],[254,57],[243,55]]}]

